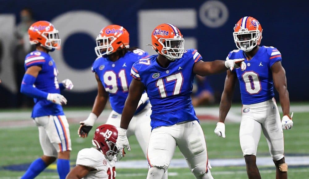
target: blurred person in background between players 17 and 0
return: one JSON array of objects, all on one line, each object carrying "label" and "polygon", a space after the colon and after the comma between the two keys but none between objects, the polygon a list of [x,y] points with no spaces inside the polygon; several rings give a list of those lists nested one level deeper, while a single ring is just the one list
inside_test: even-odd
[{"label": "blurred person in background between players 17 and 0", "polygon": [[193,106],[209,105],[214,103],[214,90],[207,77],[197,75],[194,78],[192,104]]}]

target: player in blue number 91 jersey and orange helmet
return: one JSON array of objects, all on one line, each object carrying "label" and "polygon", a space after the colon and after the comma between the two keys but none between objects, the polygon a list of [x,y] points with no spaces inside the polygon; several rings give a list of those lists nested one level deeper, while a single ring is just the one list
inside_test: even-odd
[{"label": "player in blue number 91 jersey and orange helmet", "polygon": [[[148,56],[148,53],[141,49],[129,48],[129,33],[119,25],[104,27],[96,41],[95,52],[98,58],[92,65],[92,71],[95,72],[95,78],[98,82],[98,94],[89,117],[80,122],[78,135],[83,138],[87,137],[95,120],[104,110],[108,96],[112,112],[106,124],[120,127],[122,110],[132,81],[130,76],[132,65],[139,59]],[[130,123],[128,129],[128,137],[136,136],[146,157],[151,132],[151,105],[146,93],[142,95],[135,110],[132,123]]]}]

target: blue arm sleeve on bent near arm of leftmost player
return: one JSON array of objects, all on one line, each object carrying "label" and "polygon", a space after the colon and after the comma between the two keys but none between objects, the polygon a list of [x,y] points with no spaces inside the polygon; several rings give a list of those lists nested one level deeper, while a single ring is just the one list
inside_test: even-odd
[{"label": "blue arm sleeve on bent near arm of leftmost player", "polygon": [[46,99],[48,96],[48,93],[38,90],[37,88],[33,87],[33,84],[35,81],[36,81],[36,77],[29,75],[29,74],[25,74],[23,76],[23,81],[21,83],[20,92],[32,98]]}]

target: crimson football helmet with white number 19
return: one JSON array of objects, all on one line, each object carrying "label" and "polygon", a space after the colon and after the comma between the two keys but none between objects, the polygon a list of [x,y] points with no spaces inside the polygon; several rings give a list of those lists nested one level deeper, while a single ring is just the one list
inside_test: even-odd
[{"label": "crimson football helmet with white number 19", "polygon": [[117,137],[118,130],[115,126],[103,124],[95,129],[92,144],[100,149],[108,160],[115,160],[115,155],[117,159],[119,159],[118,154],[120,154],[120,152],[116,147]]}]

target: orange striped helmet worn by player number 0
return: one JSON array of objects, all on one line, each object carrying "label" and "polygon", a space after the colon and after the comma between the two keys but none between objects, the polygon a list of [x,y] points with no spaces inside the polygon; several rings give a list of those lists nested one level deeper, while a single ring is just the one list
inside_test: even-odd
[{"label": "orange striped helmet worn by player number 0", "polygon": [[253,17],[241,18],[234,27],[234,42],[236,47],[245,52],[250,52],[262,40],[262,26]]}]

